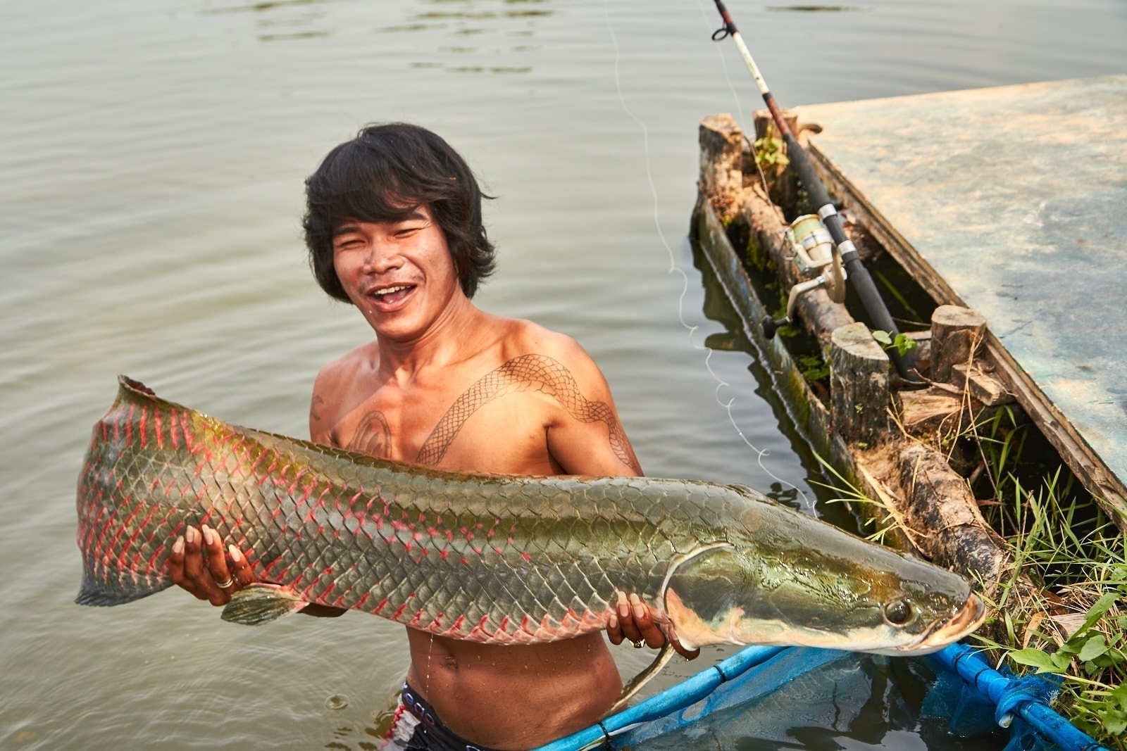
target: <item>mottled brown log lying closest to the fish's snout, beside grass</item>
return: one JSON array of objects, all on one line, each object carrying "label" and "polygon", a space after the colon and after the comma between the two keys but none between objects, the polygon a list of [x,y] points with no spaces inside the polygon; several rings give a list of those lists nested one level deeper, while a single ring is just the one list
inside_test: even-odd
[{"label": "mottled brown log lying closest to the fish's snout, beside grass", "polygon": [[900,452],[900,485],[907,498],[909,537],[934,563],[982,582],[992,596],[1012,560],[1004,540],[983,519],[967,481],[942,454],[921,444]]}]

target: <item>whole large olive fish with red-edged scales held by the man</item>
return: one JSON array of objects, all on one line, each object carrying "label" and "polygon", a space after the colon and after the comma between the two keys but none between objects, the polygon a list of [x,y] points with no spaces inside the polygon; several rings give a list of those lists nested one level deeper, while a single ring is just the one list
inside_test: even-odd
[{"label": "whole large olive fish with red-edged scales held by the man", "polygon": [[119,381],[78,482],[83,605],[169,587],[172,542],[206,522],[267,582],[228,605],[240,623],[318,602],[529,644],[605,628],[622,590],[687,647],[909,654],[983,618],[959,576],[747,488],[441,472],[239,428]]}]

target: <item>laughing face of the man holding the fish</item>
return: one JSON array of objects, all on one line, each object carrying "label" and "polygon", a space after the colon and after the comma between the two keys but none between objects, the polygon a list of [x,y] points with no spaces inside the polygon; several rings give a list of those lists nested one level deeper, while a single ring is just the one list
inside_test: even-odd
[{"label": "laughing face of the man holding the fish", "polygon": [[428,206],[402,222],[346,222],[332,265],[348,298],[381,338],[411,341],[461,295],[446,236]]}]

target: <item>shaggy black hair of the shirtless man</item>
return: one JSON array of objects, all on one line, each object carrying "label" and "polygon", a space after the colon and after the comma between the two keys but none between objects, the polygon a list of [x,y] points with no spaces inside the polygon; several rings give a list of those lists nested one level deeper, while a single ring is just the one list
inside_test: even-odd
[{"label": "shaggy black hair of the shirtless man", "polygon": [[350,302],[332,267],[332,235],[353,222],[402,222],[420,205],[446,238],[467,297],[494,271],[481,193],[465,160],[438,135],[408,123],[364,127],[329,152],[305,180],[305,245],[317,283]]}]

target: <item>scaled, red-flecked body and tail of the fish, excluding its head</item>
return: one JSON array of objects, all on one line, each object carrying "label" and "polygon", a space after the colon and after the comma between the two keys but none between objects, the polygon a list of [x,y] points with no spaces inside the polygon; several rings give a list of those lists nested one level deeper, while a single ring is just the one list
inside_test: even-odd
[{"label": "scaled, red-flecked body and tail of the fish, excluding its head", "polygon": [[650,520],[684,516],[653,508],[669,499],[637,479],[408,467],[229,426],[123,379],[79,481],[79,601],[167,588],[172,540],[207,524],[309,601],[483,642],[564,638],[605,627],[615,587],[655,592],[660,563],[692,545]]}]

